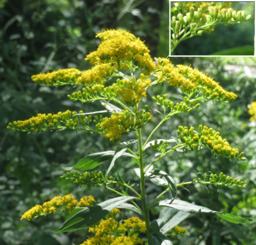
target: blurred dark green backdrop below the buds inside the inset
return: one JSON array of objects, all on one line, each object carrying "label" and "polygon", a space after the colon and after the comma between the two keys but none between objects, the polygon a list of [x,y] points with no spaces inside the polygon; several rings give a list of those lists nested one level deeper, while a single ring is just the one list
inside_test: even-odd
[{"label": "blurred dark green backdrop below the buds inside the inset", "polygon": [[[210,35],[203,33],[180,42],[172,55],[254,55],[254,2],[232,2],[230,8],[244,10],[252,19],[234,26],[216,26]],[[235,49],[236,48],[236,49]],[[223,52],[228,51],[228,52]]]}]

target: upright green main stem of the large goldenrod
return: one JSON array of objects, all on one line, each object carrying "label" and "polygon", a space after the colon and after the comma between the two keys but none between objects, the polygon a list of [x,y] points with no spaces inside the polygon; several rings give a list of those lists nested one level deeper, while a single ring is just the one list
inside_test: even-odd
[{"label": "upright green main stem of the large goldenrod", "polygon": [[145,176],[144,176],[144,166],[143,166],[143,147],[142,147],[142,140],[141,140],[141,130],[138,129],[138,143],[139,143],[139,162],[140,162],[140,189],[141,189],[141,202],[143,205],[143,210],[145,214],[145,222],[147,228],[147,236],[151,235],[150,231],[150,219],[148,213],[148,207],[146,203],[146,196],[145,196]]}]

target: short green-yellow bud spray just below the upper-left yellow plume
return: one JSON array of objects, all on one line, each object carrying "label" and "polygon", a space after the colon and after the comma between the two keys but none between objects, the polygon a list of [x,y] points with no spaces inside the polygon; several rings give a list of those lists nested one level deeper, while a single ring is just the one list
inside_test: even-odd
[{"label": "short green-yellow bud spray just below the upper-left yellow plume", "polygon": [[[106,83],[106,80],[104,81]],[[83,91],[78,91],[72,93],[72,95],[68,95],[68,99],[70,100],[81,100],[81,102],[88,102],[99,98],[99,94],[104,91],[104,85],[102,84],[95,84],[90,88],[86,86],[83,88]]]}]

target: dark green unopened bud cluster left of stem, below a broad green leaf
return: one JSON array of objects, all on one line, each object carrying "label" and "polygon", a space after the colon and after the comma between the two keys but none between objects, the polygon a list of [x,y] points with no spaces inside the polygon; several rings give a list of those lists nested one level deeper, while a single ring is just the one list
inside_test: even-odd
[{"label": "dark green unopened bud cluster left of stem, below a broad green leaf", "polygon": [[79,173],[76,171],[68,172],[65,175],[62,175],[61,178],[65,180],[71,180],[74,184],[81,184],[85,186],[102,186],[106,184],[106,181],[103,179],[102,172],[95,170],[94,172],[84,172]]}]

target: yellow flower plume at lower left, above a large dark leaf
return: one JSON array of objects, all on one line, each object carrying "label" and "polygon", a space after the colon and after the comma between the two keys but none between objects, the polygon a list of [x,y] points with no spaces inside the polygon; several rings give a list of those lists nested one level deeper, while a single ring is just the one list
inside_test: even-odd
[{"label": "yellow flower plume at lower left, above a large dark leaf", "polygon": [[32,209],[29,209],[21,216],[21,219],[27,219],[29,221],[38,216],[46,216],[47,214],[66,209],[71,212],[76,207],[92,206],[93,202],[95,202],[93,196],[84,196],[80,202],[77,202],[72,194],[67,194],[63,197],[55,196],[51,201],[45,202],[43,205],[35,205]]}]

